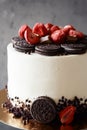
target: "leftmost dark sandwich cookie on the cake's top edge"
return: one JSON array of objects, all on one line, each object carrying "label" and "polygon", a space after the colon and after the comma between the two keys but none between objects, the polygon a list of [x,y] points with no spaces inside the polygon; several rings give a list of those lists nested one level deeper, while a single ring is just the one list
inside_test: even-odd
[{"label": "leftmost dark sandwich cookie on the cake's top edge", "polygon": [[13,47],[20,52],[30,53],[35,50],[35,46],[27,43],[24,39],[19,37],[12,38]]}]

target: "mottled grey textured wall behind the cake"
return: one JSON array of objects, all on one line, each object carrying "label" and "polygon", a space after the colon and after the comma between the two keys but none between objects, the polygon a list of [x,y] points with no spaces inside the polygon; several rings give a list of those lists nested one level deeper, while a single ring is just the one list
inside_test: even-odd
[{"label": "mottled grey textured wall behind the cake", "polygon": [[72,24],[87,33],[87,0],[0,0],[0,87],[7,83],[6,46],[27,23]]}]

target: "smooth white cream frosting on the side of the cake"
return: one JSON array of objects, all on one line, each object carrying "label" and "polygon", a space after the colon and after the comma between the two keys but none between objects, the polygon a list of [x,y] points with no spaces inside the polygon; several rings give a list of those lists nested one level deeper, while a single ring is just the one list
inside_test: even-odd
[{"label": "smooth white cream frosting on the side of the cake", "polygon": [[8,94],[21,100],[38,96],[59,98],[87,97],[87,53],[43,56],[7,47]]}]

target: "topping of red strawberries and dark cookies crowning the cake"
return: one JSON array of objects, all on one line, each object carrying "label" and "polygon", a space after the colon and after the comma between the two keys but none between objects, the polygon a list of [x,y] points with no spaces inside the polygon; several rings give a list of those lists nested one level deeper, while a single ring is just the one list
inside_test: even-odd
[{"label": "topping of red strawberries and dark cookies crowning the cake", "polygon": [[[66,25],[64,27],[60,27],[51,23],[46,23],[46,24],[36,23],[31,29],[27,24],[24,24],[19,28],[18,35],[21,39],[26,41],[26,44],[30,45],[30,48],[31,45],[35,46],[35,51],[33,52],[48,55],[48,56],[54,56],[57,54],[59,55],[59,53],[60,55],[82,54],[85,53],[87,50],[87,45],[86,48],[83,47],[85,45],[82,45],[84,43],[85,44],[87,43],[86,36],[82,32],[76,30],[72,25]],[[20,38],[18,38],[19,42],[21,42]],[[16,39],[17,42],[18,39]],[[14,39],[12,40],[13,40],[12,42],[14,43],[15,40]],[[51,41],[50,43],[52,44],[48,45],[48,40]],[[61,50],[63,51],[59,51],[59,46],[57,46],[57,44],[60,45]],[[14,45],[14,47],[15,46],[16,45]],[[53,46],[58,47],[58,49],[54,51]],[[16,46],[16,49],[19,48],[17,48]],[[27,48],[25,49],[27,50]],[[23,45],[23,50],[24,50],[24,45]],[[26,50],[23,52],[26,52]]]}]

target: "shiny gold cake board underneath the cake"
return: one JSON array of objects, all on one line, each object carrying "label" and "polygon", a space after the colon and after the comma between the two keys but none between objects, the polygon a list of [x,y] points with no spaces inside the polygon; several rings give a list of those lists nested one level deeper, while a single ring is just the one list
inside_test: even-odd
[{"label": "shiny gold cake board underneath the cake", "polygon": [[35,122],[34,120],[30,120],[29,124],[24,125],[21,121],[21,119],[15,119],[13,118],[13,115],[7,111],[7,109],[2,107],[2,104],[7,100],[7,90],[2,89],[0,90],[0,122],[3,122],[4,124],[13,126],[15,128],[19,129],[24,129],[24,130],[86,130],[87,129],[87,120],[84,122],[81,122],[80,124],[73,124],[73,125],[68,125],[68,126],[59,126],[56,122],[54,121],[51,124],[40,124]]}]

